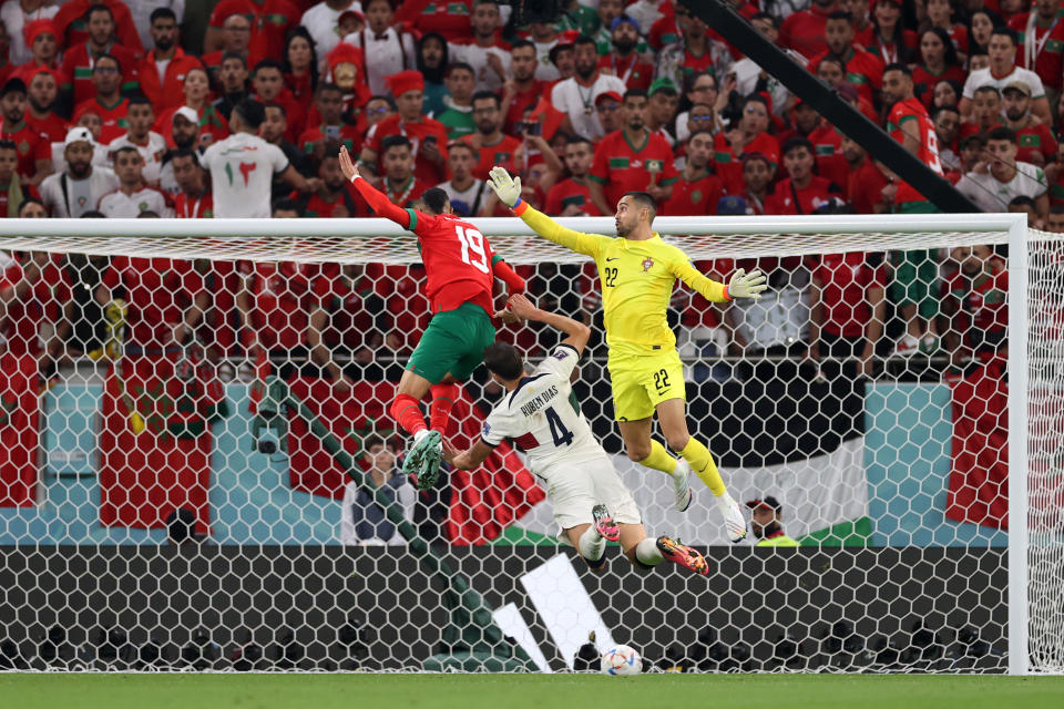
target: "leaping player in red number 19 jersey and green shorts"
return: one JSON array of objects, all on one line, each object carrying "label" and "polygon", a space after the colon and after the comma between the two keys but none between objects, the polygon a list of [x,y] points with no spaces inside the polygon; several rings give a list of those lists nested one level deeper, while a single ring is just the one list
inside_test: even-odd
[{"label": "leaping player in red number 19 jersey and green shorts", "polygon": [[[492,251],[477,227],[454,216],[447,193],[439,187],[421,196],[423,212],[402,209],[360,178],[346,147],[340,150],[340,168],[374,212],[417,234],[421,246],[432,319],[399,380],[390,412],[415,440],[403,472],[417,472],[418,486],[427,490],[439,474],[442,432],[458,397],[458,382],[472,374],[484,348],[495,340],[494,277],[504,280],[511,294],[523,291],[524,280]],[[418,402],[430,391],[427,427]]]}]

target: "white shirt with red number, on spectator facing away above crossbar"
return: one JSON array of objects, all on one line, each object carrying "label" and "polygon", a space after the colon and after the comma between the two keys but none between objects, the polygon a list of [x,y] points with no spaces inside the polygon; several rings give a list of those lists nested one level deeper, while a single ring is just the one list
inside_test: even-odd
[{"label": "white shirt with red number, on spectator facing away above crossbar", "polygon": [[279,147],[250,133],[213,144],[200,163],[211,172],[214,216],[219,219],[268,218],[274,175],[288,168]]}]

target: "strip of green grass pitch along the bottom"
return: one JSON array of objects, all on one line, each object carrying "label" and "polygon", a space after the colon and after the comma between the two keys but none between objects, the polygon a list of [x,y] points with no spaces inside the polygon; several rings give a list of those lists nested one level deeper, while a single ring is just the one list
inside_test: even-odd
[{"label": "strip of green grass pitch along the bottom", "polygon": [[928,675],[0,675],[12,709],[1016,709],[1064,677]]}]

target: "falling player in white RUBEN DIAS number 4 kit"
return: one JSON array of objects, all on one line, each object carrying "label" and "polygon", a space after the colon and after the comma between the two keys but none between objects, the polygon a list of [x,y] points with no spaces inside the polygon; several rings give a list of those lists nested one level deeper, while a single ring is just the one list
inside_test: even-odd
[{"label": "falling player in white RUBEN DIAS number 4 kit", "polygon": [[488,346],[484,366],[507,394],[488,414],[480,440],[461,452],[444,443],[444,459],[456,467],[470,470],[483,463],[503,439],[510,439],[524,450],[532,472],[546,484],[562,540],[576,547],[592,569],[602,568],[610,541],[620,542],[636,566],[651,567],[667,558],[696,574],[706,574],[708,564],[696,549],[667,536],[646,536],[632,493],[580,412],[570,380],[591,329],[571,318],[544,312],[520,294],[511,296],[509,309],[498,315],[507,321],[544,322],[569,337],[528,376],[512,345]]}]

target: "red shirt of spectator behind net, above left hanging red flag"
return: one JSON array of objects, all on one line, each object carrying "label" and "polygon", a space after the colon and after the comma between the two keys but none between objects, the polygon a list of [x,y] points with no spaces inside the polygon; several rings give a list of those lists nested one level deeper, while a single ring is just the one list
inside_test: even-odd
[{"label": "red shirt of spectator behind net, above left hanging red flag", "polygon": [[172,347],[173,326],[203,290],[203,276],[190,260],[115,256],[103,285],[125,289],[126,342],[146,349]]}]

